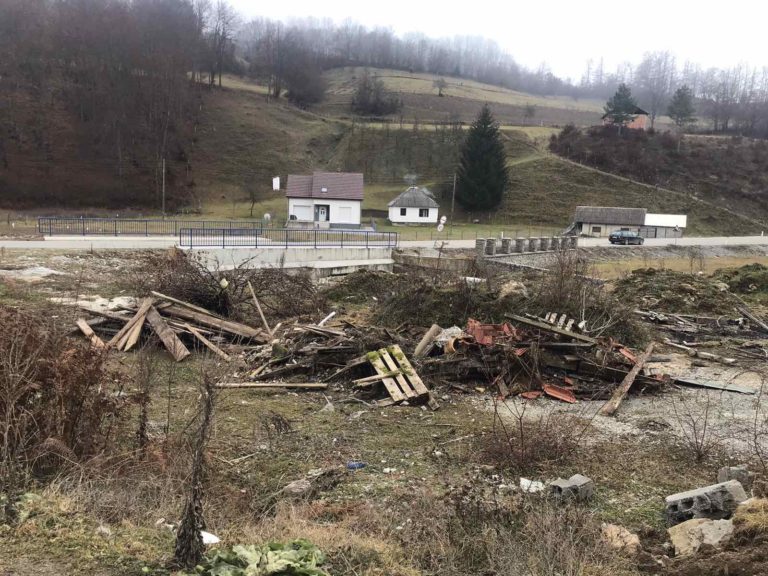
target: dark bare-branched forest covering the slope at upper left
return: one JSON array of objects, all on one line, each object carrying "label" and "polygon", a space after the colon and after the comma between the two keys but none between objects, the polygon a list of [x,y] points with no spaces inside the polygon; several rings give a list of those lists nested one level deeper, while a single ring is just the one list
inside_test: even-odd
[{"label": "dark bare-branched forest covering the slope at upper left", "polygon": [[[191,80],[221,73],[235,22],[226,3],[2,0],[0,188],[19,204],[71,203],[67,181],[90,174],[84,203],[146,203],[166,160],[169,200],[188,192]],[[64,179],[51,172],[62,163]]]}]

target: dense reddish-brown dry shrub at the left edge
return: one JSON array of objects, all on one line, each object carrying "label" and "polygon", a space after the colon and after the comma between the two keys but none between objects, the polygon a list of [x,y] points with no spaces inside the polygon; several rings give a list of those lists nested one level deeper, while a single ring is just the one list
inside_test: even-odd
[{"label": "dense reddish-brown dry shrub at the left edge", "polygon": [[102,352],[47,319],[0,309],[0,478],[102,451],[120,408],[106,376]]}]

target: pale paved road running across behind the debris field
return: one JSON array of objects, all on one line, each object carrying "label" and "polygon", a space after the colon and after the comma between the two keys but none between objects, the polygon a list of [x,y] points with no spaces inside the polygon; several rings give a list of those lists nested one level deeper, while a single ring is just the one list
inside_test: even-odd
[{"label": "pale paved road running across behind the debris field", "polygon": [[[401,248],[434,248],[439,240],[403,240]],[[6,249],[47,249],[47,250],[137,250],[169,248],[175,246],[175,236],[131,237],[131,236],[56,236],[45,240],[0,240],[0,248]],[[768,245],[768,236],[707,236],[678,239],[648,238],[646,246],[745,246]],[[446,248],[474,248],[474,240],[446,240]],[[611,247],[606,238],[580,238],[579,246]],[[614,246],[622,249],[623,246]]]}]

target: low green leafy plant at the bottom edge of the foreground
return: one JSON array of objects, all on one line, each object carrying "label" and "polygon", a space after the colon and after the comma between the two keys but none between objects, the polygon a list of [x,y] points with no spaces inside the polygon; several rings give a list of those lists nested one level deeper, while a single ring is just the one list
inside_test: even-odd
[{"label": "low green leafy plant at the bottom edge of the foreground", "polygon": [[306,540],[219,550],[197,572],[203,576],[328,576],[323,554]]}]

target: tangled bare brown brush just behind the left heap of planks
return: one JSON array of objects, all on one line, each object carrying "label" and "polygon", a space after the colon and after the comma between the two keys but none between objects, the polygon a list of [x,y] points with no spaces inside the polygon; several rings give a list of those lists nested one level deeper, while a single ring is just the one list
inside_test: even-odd
[{"label": "tangled bare brown brush just behind the left heap of planks", "polygon": [[208,262],[198,252],[176,248],[148,252],[141,258],[142,265],[127,280],[128,288],[140,295],[154,290],[224,316],[258,321],[250,282],[272,317],[324,310],[324,299],[306,271],[253,268],[250,260],[224,269],[220,262]]}]

